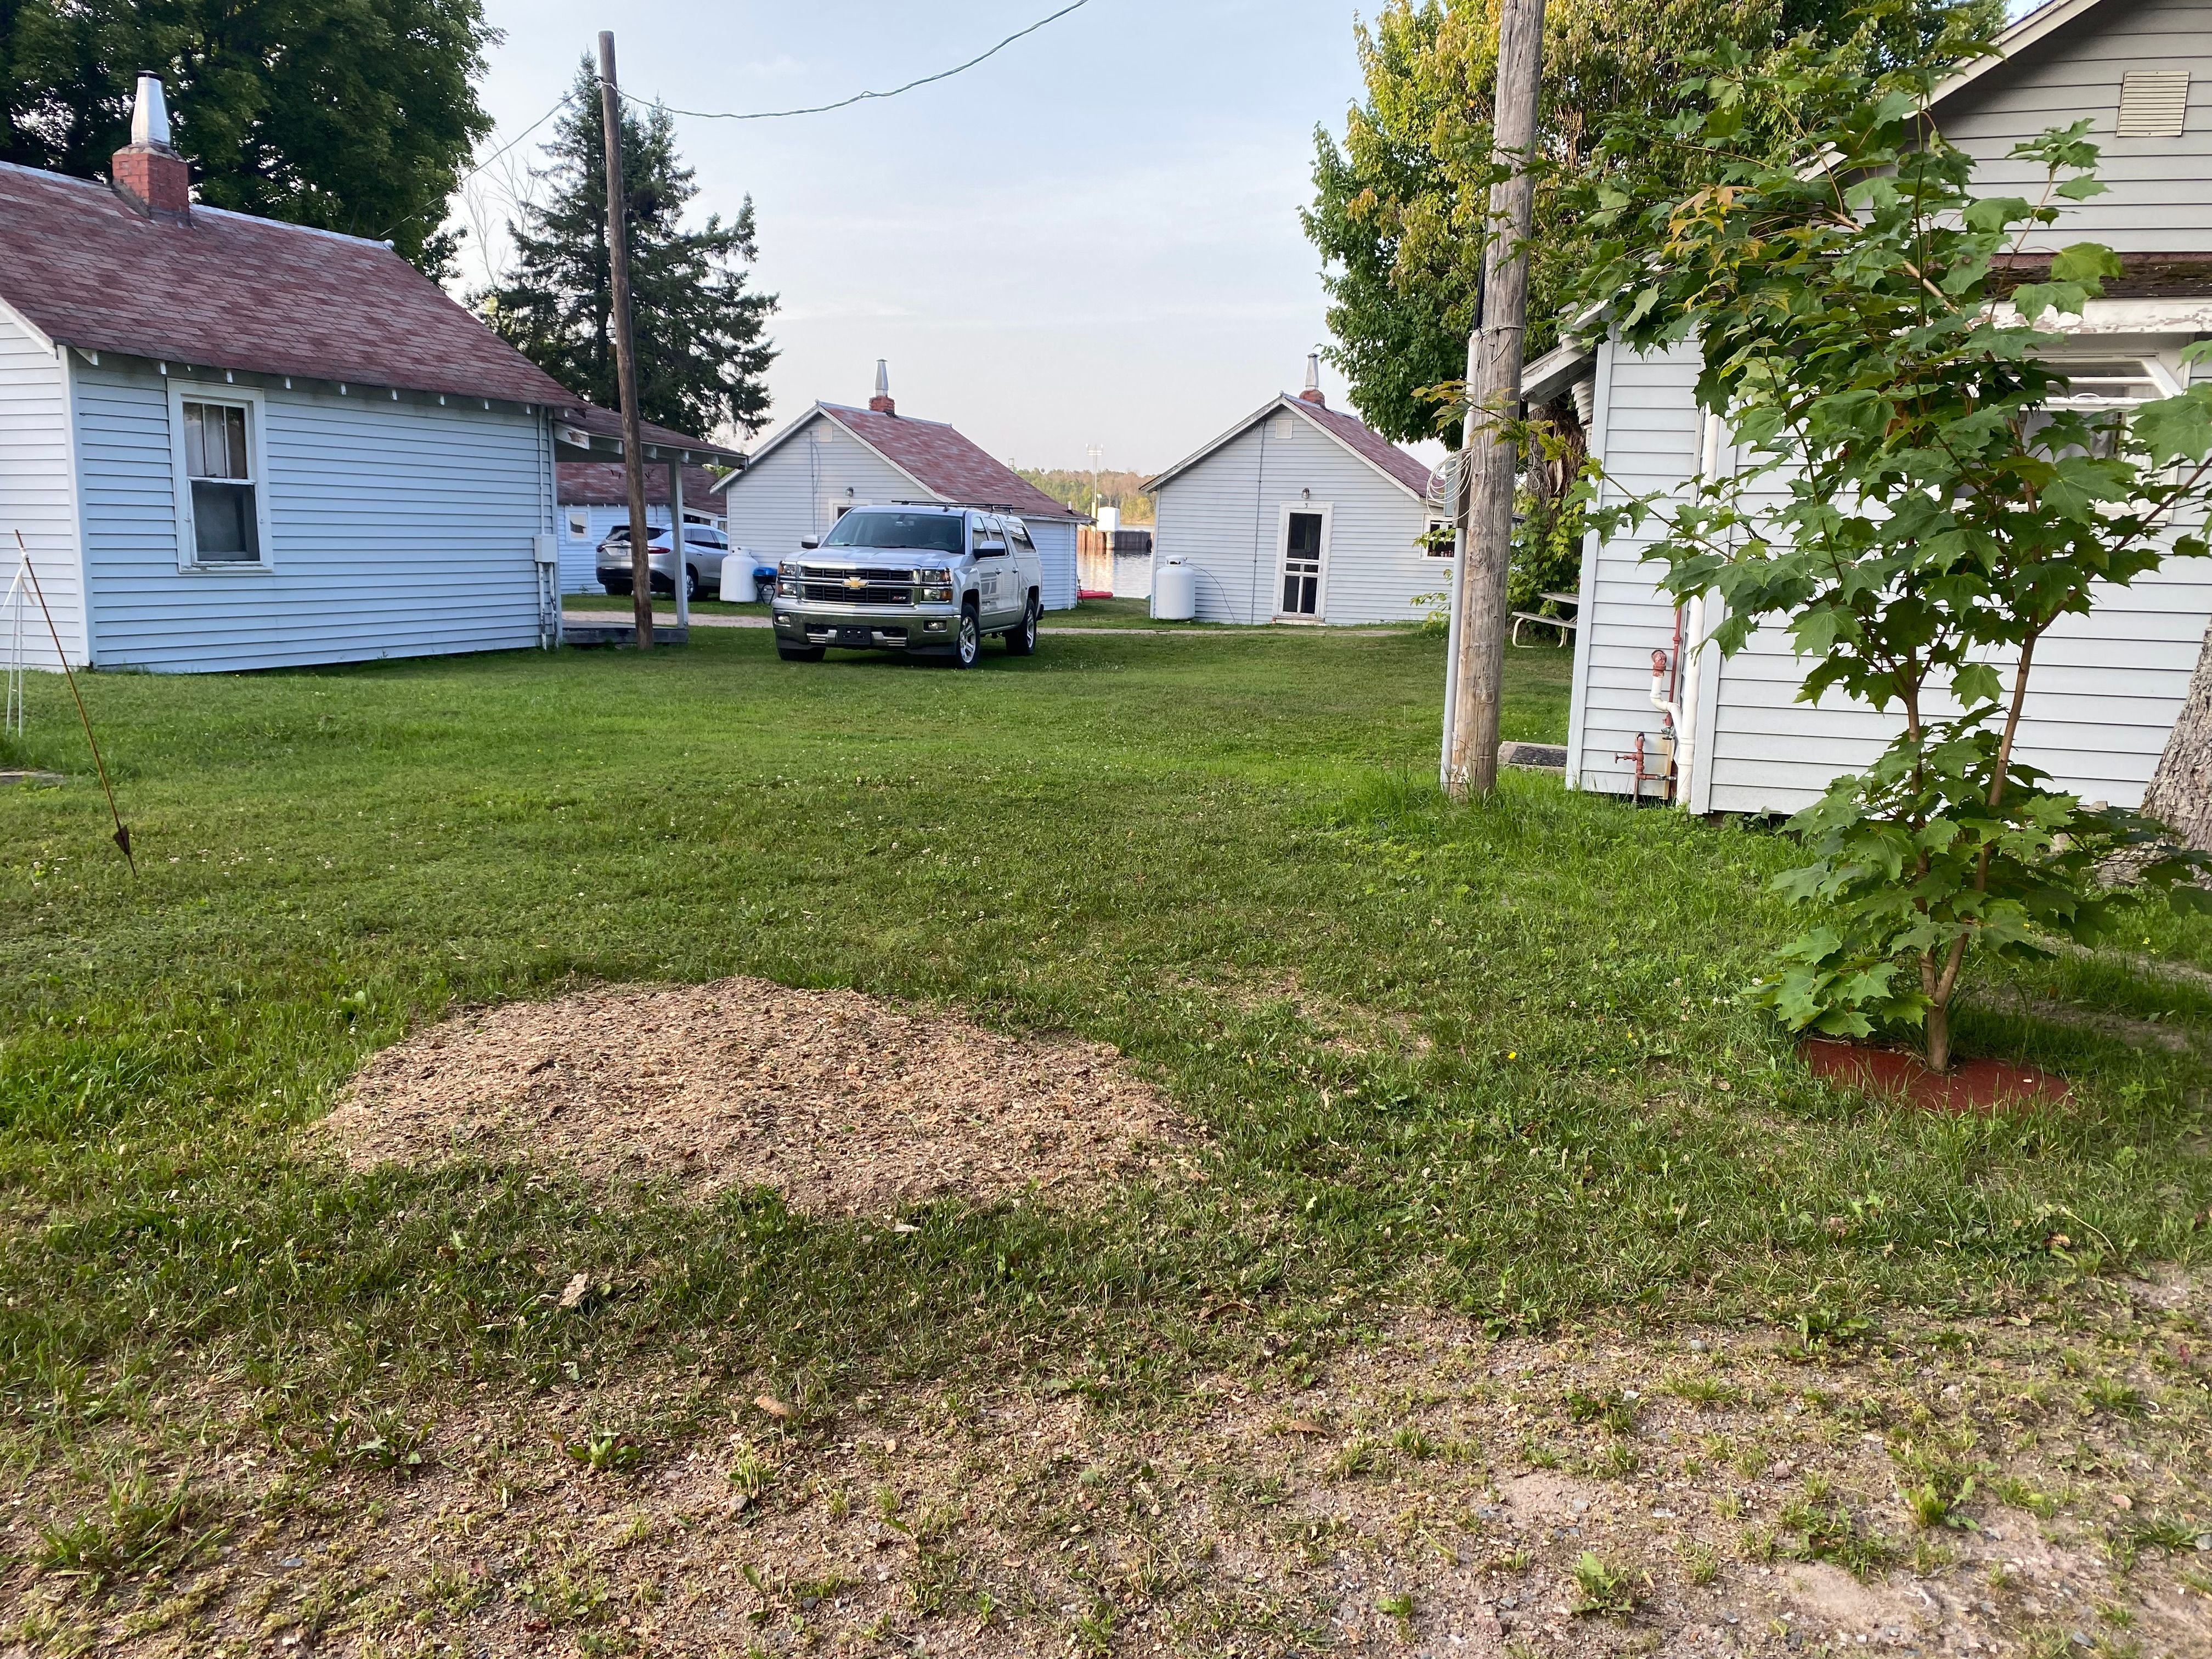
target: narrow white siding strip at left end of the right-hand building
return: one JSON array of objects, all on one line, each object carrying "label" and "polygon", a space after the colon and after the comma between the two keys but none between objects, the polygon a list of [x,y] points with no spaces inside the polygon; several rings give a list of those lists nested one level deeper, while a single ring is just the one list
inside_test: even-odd
[{"label": "narrow white siding strip at left end of the right-hand building", "polygon": [[[1599,347],[1597,460],[1606,469],[1604,500],[1679,489],[1697,471],[1699,414],[1694,347],[1650,356]],[[1674,644],[1674,602],[1657,586],[1644,551],[1657,526],[1599,542],[1582,553],[1582,626],[1575,637],[1575,697],[1568,732],[1568,783],[1628,794],[1637,734],[1657,750],[1659,710],[1650,703],[1652,650]],[[1655,761],[1657,763],[1657,761]]]}]

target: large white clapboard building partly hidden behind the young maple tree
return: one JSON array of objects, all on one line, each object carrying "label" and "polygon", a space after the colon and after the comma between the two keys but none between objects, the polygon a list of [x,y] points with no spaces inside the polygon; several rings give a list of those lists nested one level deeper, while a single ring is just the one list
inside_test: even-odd
[{"label": "large white clapboard building partly hidden behind the young maple tree", "polygon": [[[2026,184],[2004,159],[2015,142],[2077,115],[2095,122],[2110,192],[2068,206],[2048,246],[2106,241],[2126,274],[2079,321],[2064,321],[2064,361],[2077,365],[2077,383],[2095,378],[2110,396],[2177,392],[2188,374],[2181,349],[2212,334],[2212,9],[2055,0],[2011,27],[1997,58],[1947,82],[1933,115],[1984,164],[1975,173],[1984,192]],[[1705,467],[1736,465],[1732,434],[1697,407],[1697,374],[1694,345],[1644,356],[1617,341],[1531,365],[1531,383],[1595,380],[1590,453],[1615,498],[1683,489]],[[1723,661],[1710,644],[1719,602],[1677,611],[1641,562],[1650,540],[1650,531],[1604,544],[1593,535],[1584,549],[1571,787],[1672,790],[1692,812],[1796,812],[1893,737],[1896,719],[1863,703],[1796,701],[1809,661],[1781,628],[1763,628]],[[2020,759],[2084,799],[2141,803],[2212,617],[2205,566],[2168,564],[2046,637]],[[1661,699],[1681,708],[1672,781],[1639,781],[1635,770],[1639,745],[1648,770],[1659,768],[1666,717],[1655,664]]]}]

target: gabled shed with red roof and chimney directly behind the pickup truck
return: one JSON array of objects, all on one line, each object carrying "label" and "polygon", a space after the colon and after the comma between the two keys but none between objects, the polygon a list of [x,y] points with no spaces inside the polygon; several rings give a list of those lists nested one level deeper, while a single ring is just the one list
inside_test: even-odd
[{"label": "gabled shed with red roof and chimney directly behind the pickup truck", "polygon": [[942,502],[1015,513],[1044,560],[1044,608],[1075,606],[1075,529],[1091,515],[1055,502],[942,420],[898,414],[880,363],[865,409],[816,403],[717,489],[732,546],[768,560],[796,553],[803,535],[825,535],[854,507]]}]

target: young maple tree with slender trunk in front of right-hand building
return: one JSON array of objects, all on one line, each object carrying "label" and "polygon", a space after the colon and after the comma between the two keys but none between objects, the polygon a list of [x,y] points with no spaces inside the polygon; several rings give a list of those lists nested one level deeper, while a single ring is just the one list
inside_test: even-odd
[{"label": "young maple tree with slender trunk in front of right-hand building", "polygon": [[[1745,458],[1593,511],[1599,533],[1657,520],[1646,557],[1677,599],[1721,602],[1723,653],[1785,624],[1801,701],[1900,717],[1792,821],[1812,860],[1778,887],[1814,925],[1756,995],[1792,1031],[1920,1026],[1936,1071],[1973,951],[2093,940],[2150,891],[2197,898],[2177,883],[2199,874],[2141,814],[2015,752],[2051,628],[2205,551],[2212,387],[2132,414],[2068,403],[2042,323],[2079,316],[2119,259],[2033,237],[2101,192],[2097,150],[2088,122],[2044,133],[2013,153],[2044,168],[2039,199],[1978,197],[1927,108],[1989,46],[1971,22],[1916,62],[1801,40],[1756,73],[1721,49],[1679,115],[1608,135],[1586,195],[1606,241],[1584,294],[1632,347],[1701,347],[1697,400]],[[2022,272],[2042,281],[2006,294]]]}]

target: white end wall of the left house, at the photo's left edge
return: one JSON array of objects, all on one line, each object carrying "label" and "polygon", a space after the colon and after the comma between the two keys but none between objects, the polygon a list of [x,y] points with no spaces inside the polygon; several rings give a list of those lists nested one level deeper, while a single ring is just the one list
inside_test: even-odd
[{"label": "white end wall of the left house, at the photo's left edge", "polygon": [[[46,595],[71,664],[86,664],[84,584],[77,564],[77,504],[69,456],[69,380],[55,347],[0,305],[0,599],[22,571],[15,533]],[[22,661],[60,668],[53,633],[29,593]],[[15,613],[0,608],[0,661],[18,650]]]}]

